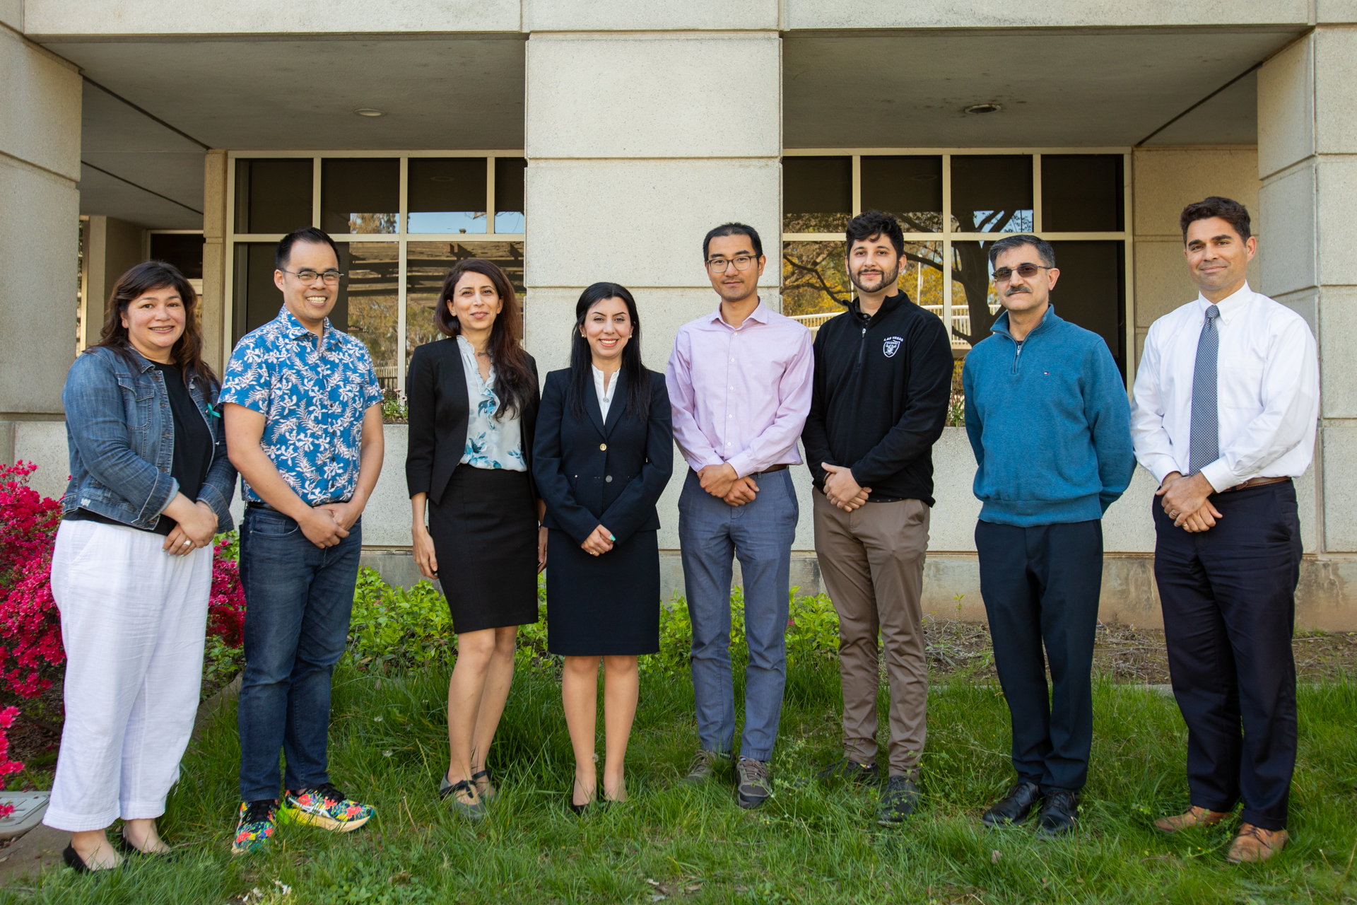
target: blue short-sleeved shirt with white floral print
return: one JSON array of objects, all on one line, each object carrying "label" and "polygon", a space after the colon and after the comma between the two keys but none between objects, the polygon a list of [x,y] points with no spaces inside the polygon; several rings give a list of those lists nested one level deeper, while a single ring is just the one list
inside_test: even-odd
[{"label": "blue short-sleeved shirt with white floral print", "polygon": [[[353,497],[358,484],[362,417],[381,402],[381,385],[362,341],[301,326],[284,307],[236,345],[221,383],[221,403],[265,417],[259,446],[309,506]],[[244,476],[246,502],[262,502]]]}]

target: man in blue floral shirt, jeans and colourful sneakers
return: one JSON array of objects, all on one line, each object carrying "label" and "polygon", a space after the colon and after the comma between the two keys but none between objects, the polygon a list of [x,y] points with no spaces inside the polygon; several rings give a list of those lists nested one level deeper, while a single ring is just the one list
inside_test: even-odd
[{"label": "man in blue floral shirt, jeans and colourful sneakers", "polygon": [[231,354],[221,387],[227,449],[246,517],[246,669],[240,685],[240,815],[232,852],[263,847],[281,811],[339,833],[373,814],[330,783],[330,676],[353,608],[362,507],[381,472],[381,388],[361,341],[328,315],[339,254],[324,232],[278,243],[284,307]]}]

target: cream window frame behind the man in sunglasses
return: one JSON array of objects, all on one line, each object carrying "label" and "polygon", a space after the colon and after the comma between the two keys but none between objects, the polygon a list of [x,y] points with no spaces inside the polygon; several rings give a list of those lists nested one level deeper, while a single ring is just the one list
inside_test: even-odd
[{"label": "cream window frame behind the man in sunglasses", "polygon": [[[863,157],[942,157],[942,231],[906,232],[905,242],[942,243],[942,259],[946,270],[942,274],[943,313],[942,320],[951,336],[953,324],[953,242],[995,242],[1012,232],[965,232],[954,231],[951,224],[951,159],[953,156],[995,155],[1031,156],[1033,191],[1033,232],[1048,242],[1121,242],[1125,255],[1125,315],[1126,323],[1126,388],[1136,381],[1136,319],[1134,319],[1134,248],[1132,223],[1132,161],[1130,148],[783,148],[786,157],[852,157],[852,210],[849,216],[862,213],[862,159]],[[1109,232],[1046,232],[1042,229],[1041,205],[1041,159],[1044,155],[1121,155],[1122,157],[1122,224],[1120,231]],[[784,213],[784,212],[783,212]],[[843,242],[841,232],[784,232],[782,242]],[[1058,262],[1057,262],[1058,263]],[[806,315],[807,317],[816,315]]]}]

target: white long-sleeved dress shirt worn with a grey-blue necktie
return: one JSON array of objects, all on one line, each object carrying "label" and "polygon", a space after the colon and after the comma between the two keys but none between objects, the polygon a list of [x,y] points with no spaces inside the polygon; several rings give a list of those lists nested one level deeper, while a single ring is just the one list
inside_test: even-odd
[{"label": "white long-sleeved dress shirt worn with a grey-blue necktie", "polygon": [[[1145,336],[1130,407],[1136,459],[1160,483],[1189,474],[1202,296],[1156,320]],[[1305,320],[1244,286],[1216,303],[1220,459],[1201,469],[1216,491],[1253,478],[1299,478],[1315,452],[1319,355]]]}]

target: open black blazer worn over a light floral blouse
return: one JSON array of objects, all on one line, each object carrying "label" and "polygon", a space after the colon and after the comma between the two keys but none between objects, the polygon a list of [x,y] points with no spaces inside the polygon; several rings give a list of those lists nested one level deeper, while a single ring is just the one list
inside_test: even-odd
[{"label": "open black blazer worn over a light floral blouse", "polygon": [[[518,425],[522,431],[522,457],[528,463],[528,483],[532,498],[537,499],[537,487],[532,483],[532,437],[540,400],[537,362],[532,355],[528,355],[528,366],[532,369],[532,387],[528,403],[518,415]],[[406,377],[406,403],[410,410],[406,487],[411,497],[429,494],[430,502],[438,503],[448,479],[467,452],[467,422],[471,418],[467,372],[463,370],[456,336],[426,342],[415,349]]]}]

